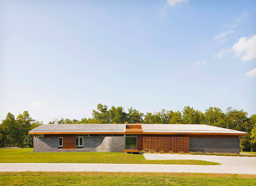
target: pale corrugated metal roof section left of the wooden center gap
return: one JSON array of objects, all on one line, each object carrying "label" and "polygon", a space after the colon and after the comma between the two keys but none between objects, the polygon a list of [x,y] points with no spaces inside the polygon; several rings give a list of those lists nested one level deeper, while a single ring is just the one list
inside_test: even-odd
[{"label": "pale corrugated metal roof section left of the wooden center gap", "polygon": [[125,124],[46,124],[29,132],[125,132]]}]

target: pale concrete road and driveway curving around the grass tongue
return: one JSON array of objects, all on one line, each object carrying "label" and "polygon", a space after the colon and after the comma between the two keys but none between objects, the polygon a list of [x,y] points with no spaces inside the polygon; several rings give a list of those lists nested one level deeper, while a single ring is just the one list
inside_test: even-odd
[{"label": "pale concrete road and driveway curving around the grass tongue", "polygon": [[256,174],[255,157],[179,154],[144,154],[144,156],[148,160],[206,160],[220,162],[222,165],[0,163],[0,171],[201,172]]}]

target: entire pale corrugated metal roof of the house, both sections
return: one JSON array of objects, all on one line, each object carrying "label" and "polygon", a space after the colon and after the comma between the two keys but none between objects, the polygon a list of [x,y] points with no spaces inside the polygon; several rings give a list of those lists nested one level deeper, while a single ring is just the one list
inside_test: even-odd
[{"label": "entire pale corrugated metal roof of the house, both sections", "polygon": [[[46,124],[30,130],[29,133],[125,133],[129,124]],[[140,125],[140,124],[139,124]],[[200,124],[141,124],[146,133],[223,133],[241,134],[246,132]]]}]

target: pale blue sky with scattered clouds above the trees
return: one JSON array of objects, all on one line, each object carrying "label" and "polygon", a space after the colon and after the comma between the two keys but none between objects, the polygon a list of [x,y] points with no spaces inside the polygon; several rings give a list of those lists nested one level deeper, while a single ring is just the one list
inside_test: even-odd
[{"label": "pale blue sky with scattered clouds above the trees", "polygon": [[0,1],[0,119],[256,113],[256,1]]}]

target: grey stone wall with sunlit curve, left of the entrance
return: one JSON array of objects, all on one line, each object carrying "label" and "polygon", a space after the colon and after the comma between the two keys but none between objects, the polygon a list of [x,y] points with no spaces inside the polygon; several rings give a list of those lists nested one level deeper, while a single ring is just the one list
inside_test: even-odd
[{"label": "grey stone wall with sunlit curve, left of the entrance", "polygon": [[125,137],[83,137],[83,149],[58,149],[58,137],[34,137],[34,152],[123,152]]}]

